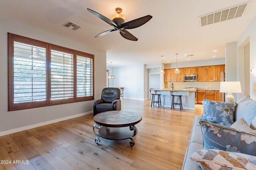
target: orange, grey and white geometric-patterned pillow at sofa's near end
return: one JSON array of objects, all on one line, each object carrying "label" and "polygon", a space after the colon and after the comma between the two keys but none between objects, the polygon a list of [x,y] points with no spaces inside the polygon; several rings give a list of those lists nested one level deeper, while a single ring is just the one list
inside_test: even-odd
[{"label": "orange, grey and white geometric-patterned pillow at sofa's near end", "polygon": [[203,170],[255,170],[256,156],[226,152],[216,149],[202,149],[194,152],[195,160]]}]

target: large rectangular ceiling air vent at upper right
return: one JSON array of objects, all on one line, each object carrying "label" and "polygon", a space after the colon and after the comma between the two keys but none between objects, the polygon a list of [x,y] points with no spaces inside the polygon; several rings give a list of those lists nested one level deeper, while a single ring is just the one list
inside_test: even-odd
[{"label": "large rectangular ceiling air vent at upper right", "polygon": [[199,16],[198,18],[199,18],[200,26],[202,27],[205,25],[210,25],[212,23],[217,23],[217,22],[241,17],[244,14],[249,3],[250,1],[244,2],[242,4],[238,4],[235,6],[231,6],[229,8],[225,8],[216,12],[211,12],[209,14]]}]

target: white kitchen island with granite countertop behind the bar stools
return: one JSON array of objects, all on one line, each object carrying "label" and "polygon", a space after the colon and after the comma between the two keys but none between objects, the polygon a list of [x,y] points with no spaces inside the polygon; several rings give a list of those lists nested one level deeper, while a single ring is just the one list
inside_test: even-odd
[{"label": "white kitchen island with granite countertop behind the bar stools", "polygon": [[[149,89],[151,94],[161,94],[162,106],[171,107],[172,105],[172,94],[173,95],[182,95],[182,105],[183,109],[194,110],[195,109],[195,95],[196,88],[186,89],[186,88],[163,88],[163,89]],[[157,98],[155,98],[157,100]],[[179,98],[175,97],[175,103],[179,103]],[[175,108],[180,108],[180,106],[174,105]]]}]

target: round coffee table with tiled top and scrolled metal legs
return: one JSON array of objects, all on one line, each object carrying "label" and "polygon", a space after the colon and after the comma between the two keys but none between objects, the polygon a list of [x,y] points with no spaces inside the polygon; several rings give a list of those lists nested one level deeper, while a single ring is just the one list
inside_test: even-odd
[{"label": "round coffee table with tiled top and scrolled metal legs", "polygon": [[[130,146],[134,146],[134,137],[138,129],[134,126],[142,120],[142,115],[132,111],[106,111],[93,117],[95,124],[93,131],[97,135],[95,143],[100,144],[100,137],[108,140],[130,139]],[[94,128],[98,129],[98,134]]]}]

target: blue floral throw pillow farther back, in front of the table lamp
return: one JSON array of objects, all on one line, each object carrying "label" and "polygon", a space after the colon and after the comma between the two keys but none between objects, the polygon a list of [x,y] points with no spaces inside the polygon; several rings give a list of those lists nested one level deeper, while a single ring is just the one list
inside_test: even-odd
[{"label": "blue floral throw pillow farther back, in front of the table lamp", "polygon": [[204,99],[202,121],[231,126],[234,123],[236,103],[216,102]]}]

